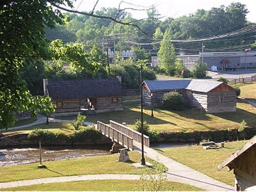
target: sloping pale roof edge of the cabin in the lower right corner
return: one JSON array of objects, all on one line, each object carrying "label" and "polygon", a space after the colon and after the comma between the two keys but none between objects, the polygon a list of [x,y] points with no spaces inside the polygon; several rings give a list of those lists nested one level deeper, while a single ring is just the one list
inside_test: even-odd
[{"label": "sloping pale roof edge of the cabin in the lower right corner", "polygon": [[239,158],[240,155],[242,155],[254,145],[256,145],[256,136],[250,139],[244,146],[239,148],[239,150],[235,151],[230,157],[228,157],[225,161],[218,165],[218,170],[221,170],[225,166],[230,166],[235,159]]}]

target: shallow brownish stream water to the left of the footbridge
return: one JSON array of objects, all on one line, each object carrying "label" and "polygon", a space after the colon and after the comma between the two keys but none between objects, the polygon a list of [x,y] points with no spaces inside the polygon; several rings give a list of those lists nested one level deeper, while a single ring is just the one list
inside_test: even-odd
[{"label": "shallow brownish stream water to the left of the footbridge", "polygon": [[[93,145],[79,147],[43,147],[42,160],[53,161],[83,156],[110,154],[111,145]],[[36,147],[0,149],[0,166],[22,165],[39,161],[39,149]]]}]

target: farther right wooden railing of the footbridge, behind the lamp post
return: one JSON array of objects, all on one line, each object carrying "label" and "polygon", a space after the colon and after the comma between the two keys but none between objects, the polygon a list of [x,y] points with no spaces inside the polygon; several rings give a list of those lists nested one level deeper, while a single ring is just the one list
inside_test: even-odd
[{"label": "farther right wooden railing of the footbridge, behind the lamp post", "polygon": [[[123,124],[114,122],[113,120],[110,120],[110,126],[113,127],[114,129],[126,134],[127,136],[133,138],[134,140],[138,141],[139,143],[142,143],[142,133],[135,131],[131,129],[130,127],[127,127]],[[143,143],[145,146],[149,147],[150,146],[150,138],[146,136],[145,134],[143,135],[144,140]]]}]

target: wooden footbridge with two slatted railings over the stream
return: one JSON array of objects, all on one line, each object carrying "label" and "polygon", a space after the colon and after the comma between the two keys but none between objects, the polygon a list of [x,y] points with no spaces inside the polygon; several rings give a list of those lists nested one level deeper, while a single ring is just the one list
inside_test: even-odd
[{"label": "wooden footbridge with two slatted railings over the stream", "polygon": [[[110,120],[110,124],[104,124],[97,121],[97,130],[99,130],[104,136],[112,139],[112,141],[122,145],[128,150],[133,150],[133,141],[142,143],[142,133],[131,129],[123,124]],[[144,145],[150,146],[150,138],[143,135]]]}]

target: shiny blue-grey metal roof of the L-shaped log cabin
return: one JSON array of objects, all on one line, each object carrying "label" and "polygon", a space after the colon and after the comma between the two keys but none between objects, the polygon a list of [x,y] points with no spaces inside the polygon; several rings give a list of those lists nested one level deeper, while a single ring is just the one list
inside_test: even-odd
[{"label": "shiny blue-grey metal roof of the L-shaped log cabin", "polygon": [[167,81],[146,80],[144,81],[144,83],[146,84],[150,91],[187,89],[203,93],[208,93],[212,89],[218,87],[220,84],[223,84],[223,82],[218,81],[191,79]]}]

